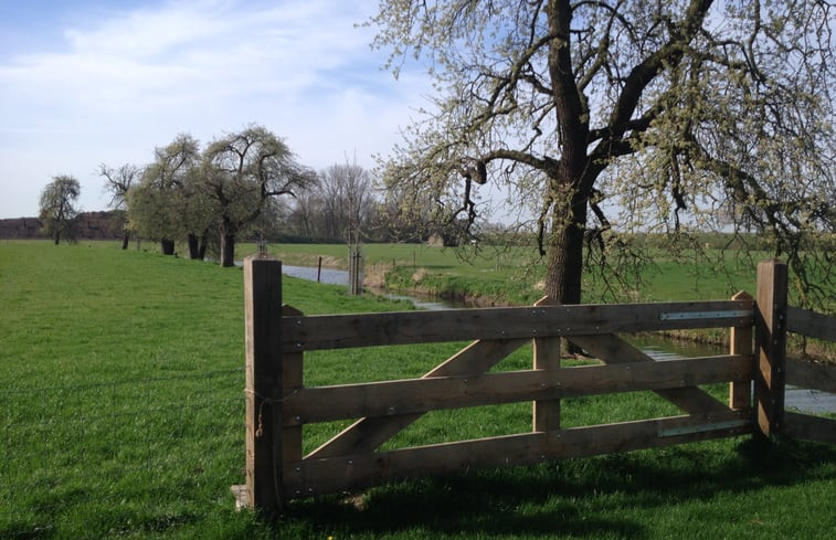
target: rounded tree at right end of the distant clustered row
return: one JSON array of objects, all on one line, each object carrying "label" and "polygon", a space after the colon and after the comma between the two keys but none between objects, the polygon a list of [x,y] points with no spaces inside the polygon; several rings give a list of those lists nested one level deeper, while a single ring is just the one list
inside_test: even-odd
[{"label": "rounded tree at right end of the distant clustered row", "polygon": [[222,266],[234,264],[235,237],[271,198],[294,195],[315,182],[282,139],[256,125],[209,145],[202,170],[202,192],[211,200],[220,232]]}]

